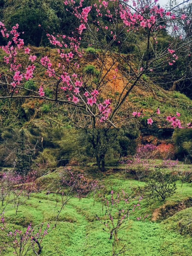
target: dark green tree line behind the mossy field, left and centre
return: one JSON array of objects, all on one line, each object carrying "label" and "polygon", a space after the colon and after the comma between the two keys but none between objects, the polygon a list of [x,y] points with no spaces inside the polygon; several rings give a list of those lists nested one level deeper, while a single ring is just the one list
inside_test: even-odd
[{"label": "dark green tree line behind the mossy field, left and centre", "polygon": [[93,159],[98,170],[106,160],[133,155],[138,130],[128,129],[5,129],[0,131],[0,166],[26,174],[33,167],[65,166],[70,161],[86,165]]}]

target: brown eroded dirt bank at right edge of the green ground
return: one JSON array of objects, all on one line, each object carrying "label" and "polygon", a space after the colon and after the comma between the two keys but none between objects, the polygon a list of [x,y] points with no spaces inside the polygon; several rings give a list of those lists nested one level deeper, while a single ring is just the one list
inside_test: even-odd
[{"label": "brown eroded dirt bank at right edge of the green ground", "polygon": [[192,206],[192,198],[187,198],[181,202],[168,201],[161,207],[155,209],[152,214],[152,221],[164,220],[170,216],[173,216],[176,212]]}]

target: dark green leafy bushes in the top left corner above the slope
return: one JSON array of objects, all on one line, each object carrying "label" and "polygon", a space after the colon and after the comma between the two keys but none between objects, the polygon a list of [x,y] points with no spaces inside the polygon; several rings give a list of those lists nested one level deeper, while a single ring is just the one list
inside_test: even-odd
[{"label": "dark green leafy bushes in the top left corner above the slope", "polygon": [[[19,32],[25,32],[22,38],[26,45],[50,45],[44,29],[70,34],[77,27],[74,17],[66,15],[67,11],[63,8],[62,1],[4,1],[2,5],[1,19],[9,26],[19,24]],[[38,26],[39,24],[43,29]]]}]

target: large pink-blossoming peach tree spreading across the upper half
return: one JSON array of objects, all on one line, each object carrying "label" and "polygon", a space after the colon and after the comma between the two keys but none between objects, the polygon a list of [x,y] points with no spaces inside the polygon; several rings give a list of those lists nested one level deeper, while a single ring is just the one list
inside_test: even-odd
[{"label": "large pink-blossoming peach tree spreading across the upper half", "polygon": [[[8,29],[0,22],[4,42],[1,49],[7,69],[0,70],[0,99],[36,98],[70,105],[70,111],[76,113],[71,119],[78,127],[117,128],[129,119],[143,118],[143,110],[129,113],[127,97],[133,88],[143,86],[143,75],[155,76],[165,66],[170,67],[171,72],[179,59],[187,62],[191,55],[191,36],[182,29],[192,22],[191,16],[182,13],[180,5],[166,10],[157,2],[99,0],[87,6],[83,0],[64,1],[69,15],[73,15],[79,25],[71,35],[47,33],[50,44],[57,49],[56,62],[48,56],[35,55],[34,50],[25,46],[19,24]],[[161,47],[158,38],[166,30],[170,41],[168,46]],[[137,40],[133,40],[139,57],[123,54],[128,39],[142,33],[144,44],[138,45]],[[97,77],[88,76],[83,67],[88,58],[87,47],[94,50],[91,54],[99,68]],[[19,53],[28,59],[26,66],[19,61]],[[123,71],[125,65],[128,72]],[[27,88],[25,82],[35,81],[39,67],[44,70],[45,79],[37,80],[38,91]],[[120,89],[118,81],[121,81]],[[45,95],[46,87],[52,89],[54,97]],[[142,88],[144,91],[144,86]],[[109,91],[110,97],[105,98]],[[146,118],[149,125],[154,119],[162,118],[173,128],[191,127],[191,120],[185,125],[179,116],[179,113],[161,116],[159,106]]]}]

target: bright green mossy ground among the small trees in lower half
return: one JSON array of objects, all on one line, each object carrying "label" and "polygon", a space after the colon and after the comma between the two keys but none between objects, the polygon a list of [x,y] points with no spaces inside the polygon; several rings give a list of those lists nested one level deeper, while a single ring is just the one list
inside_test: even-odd
[{"label": "bright green mossy ground among the small trees in lower half", "polygon": [[[107,173],[95,173],[89,171],[90,169],[87,168],[88,175],[103,180],[106,194],[110,194],[111,189],[115,193],[122,188],[128,193],[133,193],[134,188],[144,185],[144,182],[139,182],[131,176],[125,179],[123,171],[120,170],[115,173],[112,170],[108,170]],[[57,172],[58,170],[41,178],[44,179],[43,184],[46,185],[54,177],[56,178]],[[172,197],[167,198],[166,203],[174,204],[186,198],[192,198],[191,184],[184,183],[181,187],[181,182],[177,181],[177,191]],[[24,205],[19,206],[17,215],[13,207],[10,209],[8,207],[5,216],[10,227],[14,228],[25,229],[29,221],[34,225],[50,222],[53,226],[60,206],[60,202],[57,203],[58,199],[56,194],[33,193]],[[131,215],[128,226],[120,234],[123,236],[126,248],[130,248],[125,255],[191,255],[190,227],[182,229],[181,232],[180,226],[187,225],[187,221],[191,219],[192,208],[184,209],[161,222],[152,221],[153,211],[163,204],[164,202],[147,201],[145,198],[141,201],[141,209]],[[101,218],[104,216],[101,200],[98,197],[95,205],[93,205],[93,194],[81,200],[71,198],[59,215],[57,227],[45,236],[41,255],[55,253],[54,255],[58,256],[110,256],[112,241],[109,240],[109,234],[103,230],[102,224],[96,219],[96,214]],[[137,217],[143,218],[146,214],[149,214],[148,218],[137,221]],[[1,236],[0,244],[6,239],[7,237]],[[3,255],[13,255],[12,250],[8,248]]]}]

